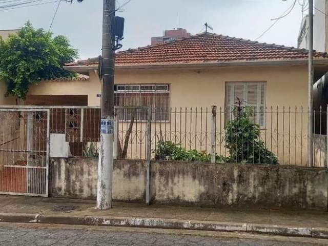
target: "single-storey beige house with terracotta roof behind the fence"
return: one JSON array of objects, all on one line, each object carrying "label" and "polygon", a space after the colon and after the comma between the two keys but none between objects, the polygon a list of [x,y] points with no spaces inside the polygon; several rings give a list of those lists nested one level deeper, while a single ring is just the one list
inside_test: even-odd
[{"label": "single-storey beige house with terracotta roof behind the fence", "polygon": [[[155,142],[168,137],[183,147],[209,152],[211,106],[215,105],[216,149],[218,154],[227,154],[223,129],[233,117],[231,110],[238,97],[243,105],[255,109],[253,120],[261,128],[263,142],[280,163],[306,164],[307,50],[202,33],[118,52],[115,68],[115,105],[159,109],[152,117]],[[31,104],[38,105],[37,100],[49,101],[54,96],[61,100],[80,96],[83,105],[99,106],[98,58],[66,64],[65,69],[89,77],[32,86],[27,103],[33,100]],[[315,81],[327,71],[326,54],[314,52]],[[137,127],[136,132],[144,132],[145,126]],[[144,147],[139,149],[141,155]]]}]

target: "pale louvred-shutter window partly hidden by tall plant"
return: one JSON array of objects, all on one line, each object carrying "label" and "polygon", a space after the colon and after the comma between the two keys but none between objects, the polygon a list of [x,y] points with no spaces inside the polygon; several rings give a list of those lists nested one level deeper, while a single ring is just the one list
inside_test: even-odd
[{"label": "pale louvred-shutter window partly hidden by tall plant", "polygon": [[265,82],[227,82],[226,83],[226,122],[233,119],[233,109],[238,105],[254,108],[251,119],[265,128]]}]

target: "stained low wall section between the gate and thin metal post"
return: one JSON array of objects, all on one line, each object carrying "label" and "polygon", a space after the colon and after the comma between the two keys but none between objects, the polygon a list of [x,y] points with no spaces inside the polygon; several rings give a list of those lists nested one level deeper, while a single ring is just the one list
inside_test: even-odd
[{"label": "stained low wall section between the gate and thin metal post", "polygon": [[[97,195],[97,158],[51,158],[49,193],[53,197],[94,199]],[[146,168],[143,161],[115,161],[113,198],[141,201],[145,197]]]}]

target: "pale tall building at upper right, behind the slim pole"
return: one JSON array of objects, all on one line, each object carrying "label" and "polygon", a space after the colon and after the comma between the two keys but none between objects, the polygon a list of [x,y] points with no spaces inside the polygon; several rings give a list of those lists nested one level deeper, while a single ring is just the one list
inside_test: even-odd
[{"label": "pale tall building at upper right, behind the slim pole", "polygon": [[[313,18],[313,49],[328,52],[328,0],[315,0]],[[308,48],[309,16],[302,19],[297,47]]]}]

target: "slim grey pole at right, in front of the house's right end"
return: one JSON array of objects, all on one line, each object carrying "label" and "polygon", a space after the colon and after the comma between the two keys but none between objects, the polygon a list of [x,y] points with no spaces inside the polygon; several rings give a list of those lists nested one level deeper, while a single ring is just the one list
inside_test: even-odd
[{"label": "slim grey pole at right, in front of the house's right end", "polygon": [[309,0],[309,140],[308,140],[308,166],[313,166],[313,0]]}]

